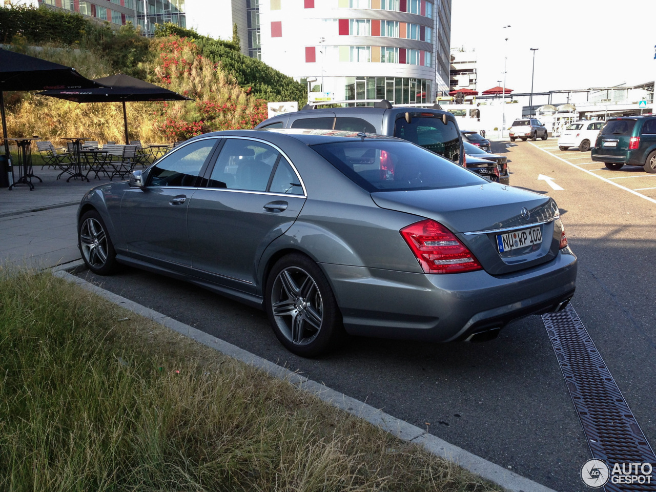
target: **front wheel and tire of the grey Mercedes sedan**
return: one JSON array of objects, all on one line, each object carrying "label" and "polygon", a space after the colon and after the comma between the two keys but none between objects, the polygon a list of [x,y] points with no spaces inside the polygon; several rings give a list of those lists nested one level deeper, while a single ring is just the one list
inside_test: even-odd
[{"label": "front wheel and tire of the grey Mercedes sedan", "polygon": [[112,238],[97,211],[90,210],[81,216],[77,224],[77,247],[94,274],[111,275],[118,269]]}]

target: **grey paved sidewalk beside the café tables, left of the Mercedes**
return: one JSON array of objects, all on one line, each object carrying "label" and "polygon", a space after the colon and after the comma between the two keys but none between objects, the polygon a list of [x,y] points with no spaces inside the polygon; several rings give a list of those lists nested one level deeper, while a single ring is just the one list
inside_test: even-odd
[{"label": "grey paved sidewalk beside the caf\u00e9 tables, left of the Mercedes", "polygon": [[[58,171],[35,168],[34,190],[19,185],[0,188],[0,265],[49,268],[80,259],[77,249],[77,205],[102,181],[56,180]],[[18,173],[16,173],[18,178]]]}]

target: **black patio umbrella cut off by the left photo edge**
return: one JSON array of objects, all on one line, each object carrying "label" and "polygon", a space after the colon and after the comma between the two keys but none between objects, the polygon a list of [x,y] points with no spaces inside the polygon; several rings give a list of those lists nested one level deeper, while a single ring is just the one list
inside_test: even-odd
[{"label": "black patio umbrella cut off by the left photo edge", "polygon": [[9,161],[9,144],[7,143],[4,91],[85,89],[102,87],[102,85],[102,83],[85,79],[75,72],[75,68],[0,49],[0,113],[7,160]]}]

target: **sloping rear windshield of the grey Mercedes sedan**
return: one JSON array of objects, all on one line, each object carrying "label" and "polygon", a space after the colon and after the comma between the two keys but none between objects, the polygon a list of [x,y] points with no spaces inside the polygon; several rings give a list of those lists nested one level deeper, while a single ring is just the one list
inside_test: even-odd
[{"label": "sloping rear windshield of the grey Mercedes sedan", "polygon": [[312,148],[370,193],[487,183],[459,165],[407,142],[355,140]]}]

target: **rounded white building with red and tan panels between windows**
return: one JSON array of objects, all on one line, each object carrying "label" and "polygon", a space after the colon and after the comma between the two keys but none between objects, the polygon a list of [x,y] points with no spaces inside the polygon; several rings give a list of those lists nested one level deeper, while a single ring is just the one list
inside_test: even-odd
[{"label": "rounded white building with red and tan panels between windows", "polygon": [[231,0],[241,51],[335,100],[448,91],[450,0]]}]

